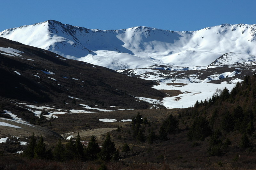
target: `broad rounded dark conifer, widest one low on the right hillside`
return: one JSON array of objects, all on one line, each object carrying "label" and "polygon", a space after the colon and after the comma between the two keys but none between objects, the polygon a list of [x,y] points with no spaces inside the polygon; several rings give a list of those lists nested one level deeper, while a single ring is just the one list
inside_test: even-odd
[{"label": "broad rounded dark conifer, widest one low on the right hillside", "polygon": [[188,131],[189,140],[204,140],[205,137],[208,137],[212,134],[212,129],[209,126],[208,121],[205,117],[199,116],[196,117],[192,126]]}]

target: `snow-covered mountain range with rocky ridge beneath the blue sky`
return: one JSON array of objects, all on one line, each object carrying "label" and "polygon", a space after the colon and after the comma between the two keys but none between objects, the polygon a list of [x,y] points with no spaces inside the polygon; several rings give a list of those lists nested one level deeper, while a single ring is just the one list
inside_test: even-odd
[{"label": "snow-covered mountain range with rocky ridge beneath the blue sky", "polygon": [[7,29],[0,36],[114,70],[208,66],[225,53],[256,55],[256,25],[246,24],[178,32],[151,27],[87,29],[48,20]]}]

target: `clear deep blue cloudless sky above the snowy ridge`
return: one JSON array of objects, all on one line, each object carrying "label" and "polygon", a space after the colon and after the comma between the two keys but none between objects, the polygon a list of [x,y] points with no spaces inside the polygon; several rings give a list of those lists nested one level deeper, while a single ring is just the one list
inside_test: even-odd
[{"label": "clear deep blue cloudless sky above the snowy ridge", "polygon": [[196,31],[256,24],[256,0],[9,0],[1,3],[0,31],[49,19],[90,29],[147,26]]}]

